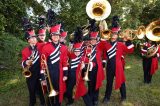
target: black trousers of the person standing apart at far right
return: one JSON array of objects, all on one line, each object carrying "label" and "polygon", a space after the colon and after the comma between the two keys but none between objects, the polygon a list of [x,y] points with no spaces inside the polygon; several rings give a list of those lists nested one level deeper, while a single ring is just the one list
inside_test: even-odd
[{"label": "black trousers of the person standing apart at far right", "polygon": [[151,71],[152,58],[143,58],[144,83],[150,83],[152,80]]}]

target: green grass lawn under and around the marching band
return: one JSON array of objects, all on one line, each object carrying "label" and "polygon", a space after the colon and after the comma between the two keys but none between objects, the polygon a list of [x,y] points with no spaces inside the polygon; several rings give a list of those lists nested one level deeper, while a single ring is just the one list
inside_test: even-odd
[{"label": "green grass lawn under and around the marching band", "polygon": [[[160,71],[153,76],[152,83],[143,83],[141,58],[135,55],[126,57],[126,87],[127,101],[120,104],[119,90],[113,90],[109,106],[160,106]],[[105,84],[100,90],[99,106],[101,103]],[[63,105],[65,102],[63,102]],[[83,100],[75,101],[75,106],[84,106]],[[28,90],[21,70],[0,71],[0,106],[27,106]],[[38,106],[38,103],[37,103]]]}]

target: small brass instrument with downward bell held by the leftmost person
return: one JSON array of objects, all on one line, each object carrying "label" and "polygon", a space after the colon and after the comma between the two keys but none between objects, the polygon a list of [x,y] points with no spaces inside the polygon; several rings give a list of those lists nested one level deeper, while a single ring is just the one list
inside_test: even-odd
[{"label": "small brass instrument with downward bell held by the leftmost person", "polygon": [[32,73],[31,73],[31,71],[29,70],[29,68],[30,68],[31,65],[32,65],[33,59],[34,59],[34,51],[32,52],[32,54],[31,54],[31,56],[30,56],[30,59],[29,59],[29,60],[31,60],[31,61],[30,61],[30,63],[29,63],[29,66],[27,65],[26,67],[23,68],[22,74],[23,74],[23,76],[24,76],[25,78],[29,78],[29,77],[31,77],[31,75],[32,75]]}]

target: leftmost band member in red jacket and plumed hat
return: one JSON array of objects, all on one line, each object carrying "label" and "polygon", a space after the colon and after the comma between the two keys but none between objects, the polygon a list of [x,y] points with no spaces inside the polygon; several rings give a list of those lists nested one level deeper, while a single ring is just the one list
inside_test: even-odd
[{"label": "leftmost band member in red jacket and plumed hat", "polygon": [[36,103],[36,93],[40,97],[41,105],[45,104],[42,89],[40,85],[40,63],[39,63],[39,50],[37,45],[37,38],[34,30],[27,31],[25,34],[29,46],[22,50],[22,67],[29,67],[31,76],[26,78],[28,90],[29,90],[29,106],[34,106]]}]

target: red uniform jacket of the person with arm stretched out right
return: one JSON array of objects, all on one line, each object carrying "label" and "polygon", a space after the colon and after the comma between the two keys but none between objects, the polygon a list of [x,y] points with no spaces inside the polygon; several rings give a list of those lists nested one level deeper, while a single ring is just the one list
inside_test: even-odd
[{"label": "red uniform jacket of the person with arm stretched out right", "polygon": [[[124,63],[122,62],[122,56],[126,53],[132,53],[134,51],[134,45],[131,44],[126,46],[122,42],[117,42],[116,45],[116,70],[115,70],[115,89],[119,89],[121,84],[125,82],[124,75]],[[107,53],[107,51],[112,49],[112,45],[107,41],[101,41],[99,43],[99,48],[101,51]]]}]

